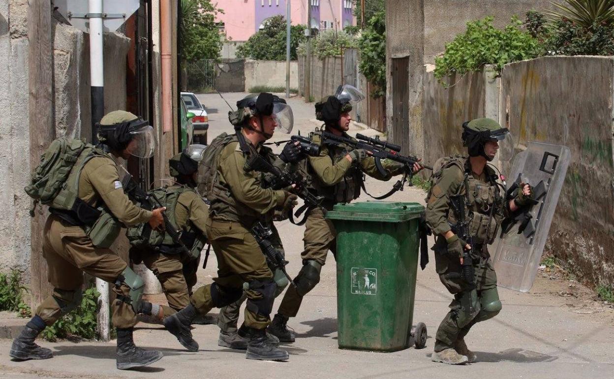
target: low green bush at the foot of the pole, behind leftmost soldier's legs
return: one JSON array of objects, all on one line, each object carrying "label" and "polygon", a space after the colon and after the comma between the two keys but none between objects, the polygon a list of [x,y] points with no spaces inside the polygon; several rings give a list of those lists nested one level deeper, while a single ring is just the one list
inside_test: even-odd
[{"label": "low green bush at the foot of the pole, behind leftmost soldier's legs", "polygon": [[53,342],[57,338],[66,338],[68,335],[77,335],[88,340],[97,338],[96,315],[98,314],[98,306],[96,302],[99,295],[95,287],[85,290],[79,307],[43,330],[42,336],[45,340]]}]

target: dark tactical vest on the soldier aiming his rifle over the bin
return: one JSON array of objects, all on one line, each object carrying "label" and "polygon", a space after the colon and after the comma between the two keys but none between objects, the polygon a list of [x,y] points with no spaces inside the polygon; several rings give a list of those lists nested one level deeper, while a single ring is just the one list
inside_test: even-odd
[{"label": "dark tactical vest on the soldier aiming his rifle over the bin", "polygon": [[[320,144],[322,149],[328,150],[328,156],[332,160],[333,165],[345,159],[345,156],[352,151],[352,147],[345,144],[340,144],[339,146],[323,144],[321,137],[316,133],[311,133],[311,141]],[[319,179],[311,165],[307,166],[307,171],[312,178],[311,189],[318,195],[324,196],[325,200],[329,203],[349,203],[360,196],[360,187],[362,187],[364,181],[364,174],[357,163],[352,163],[343,179],[335,184],[335,186],[326,186]]]}]

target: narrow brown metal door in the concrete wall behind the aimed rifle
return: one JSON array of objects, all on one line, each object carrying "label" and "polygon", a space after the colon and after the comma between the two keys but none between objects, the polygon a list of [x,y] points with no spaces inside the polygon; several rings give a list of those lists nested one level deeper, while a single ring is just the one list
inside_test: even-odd
[{"label": "narrow brown metal door in the concrete wall behind the aimed rifle", "polygon": [[410,60],[392,58],[392,140],[406,154],[410,138]]}]

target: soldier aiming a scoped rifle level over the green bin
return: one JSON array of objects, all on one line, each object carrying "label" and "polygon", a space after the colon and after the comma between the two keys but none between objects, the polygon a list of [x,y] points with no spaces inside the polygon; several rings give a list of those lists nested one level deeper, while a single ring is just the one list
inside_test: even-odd
[{"label": "soldier aiming a scoped rifle level over the green bin", "polygon": [[[362,93],[356,93],[356,88],[351,88],[356,96],[326,96],[316,104],[316,118],[324,122],[325,130],[345,138],[351,138],[346,131],[349,130],[349,123],[352,120],[349,114],[352,103],[364,98]],[[365,150],[323,144],[319,137],[317,133],[314,134],[312,141],[321,144],[320,155],[308,157],[306,165],[313,185],[310,190],[324,197],[322,205],[327,210],[332,209],[337,203],[348,203],[358,198],[363,174],[387,181],[405,170],[405,166],[397,162],[383,160],[382,164],[387,175],[382,176],[376,168],[375,159],[369,157]],[[418,164],[413,168],[416,172],[420,169]],[[303,268],[294,279],[297,287],[290,286],[287,289],[278,313],[268,327],[268,332],[278,337],[281,342],[294,342],[295,336],[287,329],[287,321],[297,315],[303,297],[319,283],[320,272],[326,262],[328,251],[332,251],[333,256],[335,255],[335,238],[335,227],[332,222],[324,218],[322,209],[309,209],[303,237],[305,250],[301,252]]]}]

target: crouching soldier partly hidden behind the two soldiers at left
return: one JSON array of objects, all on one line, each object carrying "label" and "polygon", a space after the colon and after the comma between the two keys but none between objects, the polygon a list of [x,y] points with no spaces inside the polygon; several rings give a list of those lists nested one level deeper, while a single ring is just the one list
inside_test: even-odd
[{"label": "crouching soldier partly hidden behind the two soldiers at left", "polygon": [[181,231],[181,240],[189,251],[184,251],[168,233],[151,230],[147,223],[131,227],[126,233],[132,245],[131,259],[136,264],[142,261],[152,270],[168,300],[168,307],[153,305],[142,309],[142,313],[160,320],[187,307],[192,287],[196,284],[196,270],[206,243],[205,224],[209,217],[206,203],[195,190],[198,163],[203,158],[204,149],[204,145],[190,145],[169,159],[170,173],[177,184],[150,193],[166,206],[169,221]]}]

